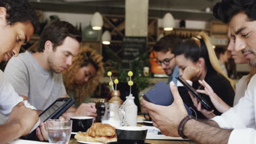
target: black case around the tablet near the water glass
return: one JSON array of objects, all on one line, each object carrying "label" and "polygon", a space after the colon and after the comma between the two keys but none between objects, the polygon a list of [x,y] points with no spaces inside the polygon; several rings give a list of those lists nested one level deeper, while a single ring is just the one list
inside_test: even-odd
[{"label": "black case around the tablet near the water glass", "polygon": [[[59,98],[55,100],[54,103],[51,104],[49,107],[47,107],[47,109],[45,109],[42,113],[40,113],[39,117],[42,116],[48,110],[50,110],[51,107],[54,106],[58,101],[65,101],[65,102],[60,107],[58,107],[56,111],[51,113],[51,115],[48,118],[44,119],[43,122],[47,121],[48,119],[58,119],[64,112],[66,112],[69,109],[69,107],[71,107],[75,103],[75,100],[71,98]],[[39,141],[36,135],[36,129],[34,129],[30,134],[22,136],[22,139]]]}]

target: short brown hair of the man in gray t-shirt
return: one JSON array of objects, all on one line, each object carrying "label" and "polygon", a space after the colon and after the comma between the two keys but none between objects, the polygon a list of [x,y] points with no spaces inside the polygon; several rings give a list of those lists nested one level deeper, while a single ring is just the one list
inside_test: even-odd
[{"label": "short brown hair of the man in gray t-shirt", "polygon": [[44,51],[44,44],[47,40],[53,43],[53,50],[61,45],[66,37],[71,37],[77,40],[79,43],[82,42],[82,35],[71,23],[66,21],[54,20],[51,21],[47,26],[45,26],[39,39],[39,46],[37,51]]}]

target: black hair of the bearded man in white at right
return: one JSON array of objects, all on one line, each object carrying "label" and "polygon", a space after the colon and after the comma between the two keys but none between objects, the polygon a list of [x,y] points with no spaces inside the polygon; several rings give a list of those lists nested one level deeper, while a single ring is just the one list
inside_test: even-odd
[{"label": "black hair of the bearded man in white at right", "polygon": [[249,21],[256,20],[256,0],[222,0],[214,5],[213,15],[224,23],[229,23],[231,18],[244,12]]}]

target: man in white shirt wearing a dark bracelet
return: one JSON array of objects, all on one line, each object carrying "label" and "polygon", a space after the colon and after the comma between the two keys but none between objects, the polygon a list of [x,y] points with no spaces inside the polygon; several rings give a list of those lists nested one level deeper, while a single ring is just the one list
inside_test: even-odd
[{"label": "man in white shirt wearing a dark bracelet", "polygon": [[[231,41],[235,50],[242,50],[249,64],[256,67],[256,0],[222,0],[216,4],[213,14],[229,23]],[[173,104],[159,106],[142,100],[153,124],[168,136],[188,137],[197,143],[256,143],[256,75],[248,84],[245,97],[221,116],[200,122],[188,116],[183,101],[173,82],[170,89]],[[225,89],[223,89],[225,91]]]}]

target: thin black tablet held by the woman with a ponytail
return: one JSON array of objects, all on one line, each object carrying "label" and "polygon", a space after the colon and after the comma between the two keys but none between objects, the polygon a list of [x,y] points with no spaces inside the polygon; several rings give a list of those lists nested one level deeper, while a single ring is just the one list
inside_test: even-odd
[{"label": "thin black tablet held by the woman with a ponytail", "polygon": [[212,107],[207,103],[207,101],[202,97],[202,95],[200,95],[199,93],[197,93],[196,90],[195,90],[192,86],[190,86],[187,81],[185,81],[181,76],[178,76],[178,77],[176,77],[176,78],[177,78],[177,80],[178,80],[179,82],[182,83],[182,85],[183,85],[186,89],[188,89],[189,92],[191,92],[191,94],[192,94],[197,100],[199,100],[199,101],[201,102],[202,107],[203,107],[204,109],[206,109],[206,110],[208,110],[208,111],[211,111],[211,110],[212,110]]}]

